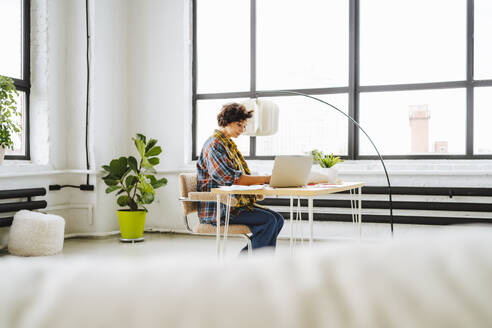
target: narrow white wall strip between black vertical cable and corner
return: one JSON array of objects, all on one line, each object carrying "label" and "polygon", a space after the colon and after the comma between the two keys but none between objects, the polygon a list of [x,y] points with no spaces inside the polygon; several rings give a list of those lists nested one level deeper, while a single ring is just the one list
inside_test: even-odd
[{"label": "narrow white wall strip between black vertical cable and corner", "polygon": [[[94,103],[91,123],[95,169],[130,149],[128,115],[127,12],[128,1],[93,1],[94,15]],[[92,181],[96,179],[93,177]],[[95,203],[93,230],[118,230],[114,195],[106,195],[98,178],[90,193]],[[79,192],[80,194],[81,192]],[[83,230],[82,230],[83,231]]]}]

